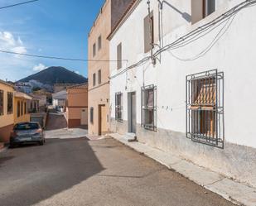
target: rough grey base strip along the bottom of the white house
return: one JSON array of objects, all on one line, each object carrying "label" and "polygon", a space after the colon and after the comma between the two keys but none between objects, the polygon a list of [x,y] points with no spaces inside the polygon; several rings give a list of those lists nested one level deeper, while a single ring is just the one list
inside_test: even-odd
[{"label": "rough grey base strip along the bottom of the white house", "polygon": [[[127,122],[111,120],[113,132],[128,132]],[[185,133],[157,129],[157,132],[145,130],[137,125],[138,141],[162,151],[171,152],[196,165],[203,166],[222,175],[234,178],[256,187],[256,149],[239,146],[225,141],[225,148],[200,144],[186,138]]]}]

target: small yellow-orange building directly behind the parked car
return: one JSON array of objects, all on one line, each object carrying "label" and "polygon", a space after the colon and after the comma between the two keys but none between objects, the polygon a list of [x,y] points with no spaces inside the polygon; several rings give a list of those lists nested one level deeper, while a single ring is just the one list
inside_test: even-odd
[{"label": "small yellow-orange building directly behind the parked car", "polygon": [[27,95],[27,93],[14,92],[14,124],[18,122],[30,122],[28,104],[31,99],[31,96]]}]

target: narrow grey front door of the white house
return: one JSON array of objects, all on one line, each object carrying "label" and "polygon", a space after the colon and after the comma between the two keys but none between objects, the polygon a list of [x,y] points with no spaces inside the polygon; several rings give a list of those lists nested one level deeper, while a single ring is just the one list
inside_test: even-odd
[{"label": "narrow grey front door of the white house", "polygon": [[128,132],[136,133],[136,93],[128,93]]}]

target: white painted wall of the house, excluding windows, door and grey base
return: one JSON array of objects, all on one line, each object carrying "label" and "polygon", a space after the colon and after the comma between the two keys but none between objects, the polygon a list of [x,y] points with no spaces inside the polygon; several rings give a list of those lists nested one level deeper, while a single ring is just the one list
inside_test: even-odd
[{"label": "white painted wall of the house, excluding windows, door and grey base", "polygon": [[[158,3],[152,2],[155,19],[155,36],[158,39]],[[191,14],[191,1],[171,1],[181,12]],[[217,11],[204,20],[191,25],[181,14],[171,7],[163,7],[164,45],[186,35],[200,25],[210,22],[223,12],[234,7],[241,0],[217,0]],[[147,0],[142,0],[138,7],[123,23],[110,41],[110,60],[116,59],[116,48],[122,42],[123,68],[141,60],[144,54],[143,19],[147,16]],[[245,8],[239,12],[225,35],[204,56],[197,60],[185,61],[205,50],[213,41],[220,28],[210,32],[189,46],[171,52],[162,53],[161,63],[152,66],[147,62],[136,69],[111,79],[110,103],[111,117],[114,118],[114,94],[123,93],[123,120],[128,120],[127,93],[137,93],[137,122],[141,122],[141,87],[143,84],[157,85],[157,127],[175,132],[186,132],[186,75],[210,69],[225,73],[225,141],[256,148],[256,7]],[[176,57],[174,57],[174,55]],[[110,63],[110,74],[120,70],[115,63]],[[144,74],[144,75],[143,75]],[[135,78],[136,77],[136,78]]]}]

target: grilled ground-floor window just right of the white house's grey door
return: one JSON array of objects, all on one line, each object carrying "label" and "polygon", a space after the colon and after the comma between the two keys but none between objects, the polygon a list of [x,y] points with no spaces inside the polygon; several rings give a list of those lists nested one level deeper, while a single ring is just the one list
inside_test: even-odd
[{"label": "grilled ground-floor window just right of the white house's grey door", "polygon": [[157,87],[152,85],[142,87],[142,127],[157,130]]}]

